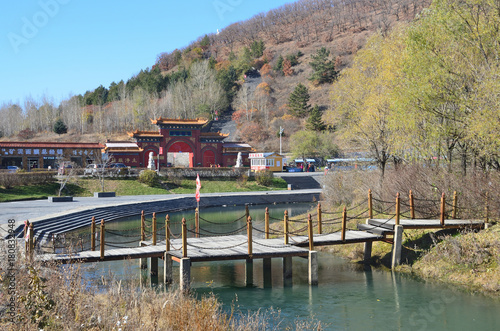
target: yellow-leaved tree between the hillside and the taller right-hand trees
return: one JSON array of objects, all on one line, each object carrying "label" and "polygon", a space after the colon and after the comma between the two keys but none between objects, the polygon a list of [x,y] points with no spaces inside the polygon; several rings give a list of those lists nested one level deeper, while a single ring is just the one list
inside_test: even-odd
[{"label": "yellow-leaved tree between the hillside and the taller right-hand trees", "polygon": [[325,114],[344,148],[367,151],[384,177],[394,156],[395,85],[400,79],[402,38],[399,34],[371,37],[332,88],[332,110]]}]

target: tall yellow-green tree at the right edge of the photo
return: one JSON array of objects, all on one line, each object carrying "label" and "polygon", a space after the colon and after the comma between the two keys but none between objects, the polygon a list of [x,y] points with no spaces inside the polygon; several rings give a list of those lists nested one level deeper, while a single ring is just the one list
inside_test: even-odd
[{"label": "tall yellow-green tree at the right edge of the photo", "polygon": [[[406,36],[400,124],[413,156],[496,160],[500,150],[500,6],[495,0],[436,0]],[[403,150],[403,146],[399,146]]]}]

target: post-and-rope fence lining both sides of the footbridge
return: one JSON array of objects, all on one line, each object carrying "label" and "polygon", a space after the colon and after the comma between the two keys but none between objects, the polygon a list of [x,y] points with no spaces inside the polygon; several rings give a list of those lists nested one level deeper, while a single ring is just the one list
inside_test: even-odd
[{"label": "post-and-rope fence lining both sides of the footbridge", "polygon": [[[486,222],[489,221],[489,207],[487,202],[488,200],[486,201],[484,209],[484,219]],[[427,211],[429,205],[434,206],[435,209],[438,209],[439,211],[429,213]],[[368,196],[364,201],[350,208],[344,206],[340,210],[328,211],[323,210],[321,203],[318,203],[315,213],[308,213],[307,216],[301,216],[293,219],[289,217],[288,211],[284,212],[283,218],[271,217],[269,208],[266,208],[263,224],[259,224],[262,221],[256,222],[252,220],[248,205],[246,205],[245,213],[242,216],[229,222],[236,223],[245,220],[246,224],[229,232],[215,232],[202,227],[200,225],[200,221],[203,221],[206,224],[215,225],[221,223],[201,217],[198,209],[195,209],[195,213],[192,218],[182,218],[180,222],[172,222],[170,221],[169,215],[166,215],[164,224],[162,224],[161,226],[159,226],[156,213],[152,213],[152,217],[150,219],[147,219],[144,211],[142,211],[140,225],[138,227],[125,230],[108,230],[106,229],[104,219],[101,220],[99,225],[96,222],[95,217],[93,217],[89,235],[79,235],[74,238],[66,236],[65,234],[53,235],[50,242],[47,242],[43,245],[41,243],[36,243],[35,245],[33,224],[27,222],[24,229],[24,237],[28,239],[26,242],[26,250],[30,255],[33,253],[35,246],[37,246],[37,248],[39,248],[39,251],[51,253],[74,253],[88,249],[92,251],[99,249],[102,258],[104,256],[105,246],[111,248],[124,248],[130,247],[124,245],[137,245],[139,242],[145,241],[151,241],[152,245],[157,245],[158,239],[165,240],[165,249],[167,251],[171,249],[182,249],[184,255],[187,254],[188,235],[199,238],[228,236],[242,233],[246,233],[246,241],[242,241],[241,243],[236,244],[232,243],[231,246],[218,247],[217,249],[226,249],[235,247],[235,245],[241,246],[248,243],[250,250],[252,245],[255,244],[255,241],[253,240],[254,232],[260,233],[265,239],[269,239],[270,236],[283,236],[283,245],[288,245],[290,243],[301,244],[308,240],[309,247],[312,250],[314,247],[313,233],[316,233],[316,236],[322,236],[340,232],[341,240],[344,241],[346,231],[355,228],[358,223],[361,223],[367,218],[383,218],[386,223],[394,220],[395,224],[399,225],[401,217],[416,220],[416,216],[418,215],[422,220],[439,218],[441,226],[444,227],[446,225],[446,219],[448,219],[450,216],[452,219],[456,219],[459,213],[465,210],[466,208],[461,208],[458,206],[458,198],[456,192],[453,195],[452,202],[449,203],[447,202],[444,193],[442,194],[440,201],[418,199],[413,195],[411,191],[407,198],[402,198],[401,195],[397,193],[394,201],[383,201],[374,198],[371,190],[369,190]],[[191,222],[194,223],[193,228],[188,229],[187,224]],[[274,228],[270,226],[271,222],[276,224]],[[224,224],[227,225],[228,223],[225,222]],[[279,224],[282,224],[282,229],[276,229],[279,228]],[[180,233],[174,233],[172,231],[173,225],[181,226]],[[329,230],[325,231],[325,229]],[[125,238],[125,240],[106,240],[106,234],[115,237],[123,237]],[[296,238],[304,235],[307,236],[307,239],[302,240],[302,242],[296,241]],[[172,238],[182,238],[182,246],[173,247],[171,243]],[[195,245],[192,246],[196,247]]]}]

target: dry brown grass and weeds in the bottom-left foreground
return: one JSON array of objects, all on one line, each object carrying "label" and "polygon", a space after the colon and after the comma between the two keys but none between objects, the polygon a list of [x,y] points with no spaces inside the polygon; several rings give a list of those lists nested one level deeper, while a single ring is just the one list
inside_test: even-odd
[{"label": "dry brown grass and weeds in the bottom-left foreground", "polygon": [[[4,245],[2,245],[4,246]],[[16,314],[9,316],[11,295],[5,247],[0,262],[2,330],[280,330],[279,311],[230,312],[214,295],[197,298],[178,289],[141,286],[139,277],[102,277],[89,284],[78,264],[39,265],[17,254]],[[125,266],[126,267],[126,266]],[[292,322],[293,323],[293,322]],[[287,324],[288,325],[288,324]],[[296,321],[294,330],[321,330],[317,321]]]}]

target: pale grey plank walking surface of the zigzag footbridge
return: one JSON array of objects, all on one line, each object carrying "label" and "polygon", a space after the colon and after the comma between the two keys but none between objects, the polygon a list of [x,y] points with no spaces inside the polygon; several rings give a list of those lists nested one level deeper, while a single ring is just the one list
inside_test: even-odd
[{"label": "pale grey plank walking surface of the zigzag footbridge", "polygon": [[[369,224],[373,226],[394,227],[394,220],[370,219]],[[400,220],[400,224],[407,229],[415,228],[442,228],[439,220]],[[484,221],[480,220],[446,220],[445,228],[474,227],[481,228]],[[382,235],[368,233],[365,231],[348,230],[345,232],[345,240],[341,240],[341,233],[315,234],[314,246],[341,245],[360,242],[383,240]],[[201,237],[188,238],[187,256],[193,262],[219,261],[219,260],[241,260],[250,258],[248,254],[248,238],[244,235],[232,235],[223,237]],[[302,247],[309,246],[307,236],[290,237],[290,244],[285,245],[282,238],[259,239],[254,238],[252,243],[251,258],[273,258],[290,256],[307,256],[308,250]],[[171,240],[169,255],[174,260],[182,258],[182,240]],[[160,241],[156,246],[147,245],[141,247],[125,247],[106,249],[104,258],[101,259],[99,250],[84,251],[74,254],[45,254],[38,258],[41,261],[58,261],[61,263],[72,262],[98,262],[127,260],[148,257],[162,257],[165,254],[165,241]]]}]

